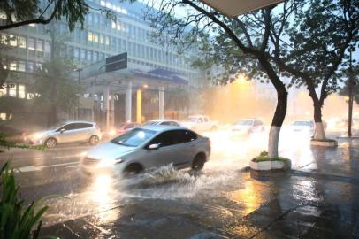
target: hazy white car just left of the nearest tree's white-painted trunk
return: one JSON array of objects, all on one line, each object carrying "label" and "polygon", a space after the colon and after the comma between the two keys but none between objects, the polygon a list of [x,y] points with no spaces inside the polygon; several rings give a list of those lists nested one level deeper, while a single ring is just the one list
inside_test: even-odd
[{"label": "hazy white car just left of the nearest tree's white-painted trunk", "polygon": [[256,132],[263,132],[264,129],[264,123],[262,120],[244,119],[235,122],[231,131],[233,136],[247,136]]}]

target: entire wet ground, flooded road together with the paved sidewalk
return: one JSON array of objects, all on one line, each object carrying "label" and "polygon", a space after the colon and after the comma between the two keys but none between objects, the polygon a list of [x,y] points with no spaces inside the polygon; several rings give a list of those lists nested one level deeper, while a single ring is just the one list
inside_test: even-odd
[{"label": "entire wet ground, flooded road together with the paved sidewalk", "polygon": [[42,235],[60,238],[356,238],[359,236],[359,140],[337,148],[310,147],[308,135],[283,130],[279,153],[287,173],[257,174],[248,162],[267,146],[266,132],[210,137],[201,173],[165,166],[123,180],[84,177],[88,145],[8,150],[19,168],[21,197],[46,201]]}]

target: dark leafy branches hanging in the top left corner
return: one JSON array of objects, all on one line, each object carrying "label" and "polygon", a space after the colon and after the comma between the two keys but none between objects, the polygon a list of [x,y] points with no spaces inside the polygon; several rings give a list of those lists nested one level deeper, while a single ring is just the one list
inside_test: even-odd
[{"label": "dark leafy branches hanging in the top left corner", "polygon": [[107,18],[116,20],[116,15],[106,8],[95,8],[85,0],[27,0],[0,2],[0,12],[6,16],[0,31],[28,24],[49,24],[53,19],[62,20],[68,24],[70,31],[80,23],[84,26],[85,16],[89,9],[103,12]]}]

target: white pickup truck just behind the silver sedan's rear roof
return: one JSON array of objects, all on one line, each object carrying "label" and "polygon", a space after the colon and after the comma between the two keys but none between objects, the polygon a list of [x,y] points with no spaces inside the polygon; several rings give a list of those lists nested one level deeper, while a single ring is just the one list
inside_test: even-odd
[{"label": "white pickup truck just behind the silver sedan's rear roof", "polygon": [[204,115],[191,115],[181,125],[197,132],[216,130],[218,128],[218,122],[212,121],[210,117]]}]

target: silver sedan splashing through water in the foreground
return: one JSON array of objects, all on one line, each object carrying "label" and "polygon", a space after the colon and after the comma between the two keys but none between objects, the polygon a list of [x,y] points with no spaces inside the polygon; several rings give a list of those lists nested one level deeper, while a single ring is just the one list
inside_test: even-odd
[{"label": "silver sedan splashing through water in the foreground", "polygon": [[89,150],[80,166],[87,174],[109,170],[135,174],[169,164],[201,170],[209,157],[207,137],[185,127],[142,126]]}]

